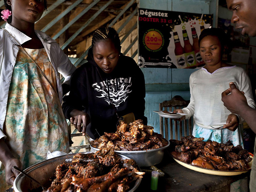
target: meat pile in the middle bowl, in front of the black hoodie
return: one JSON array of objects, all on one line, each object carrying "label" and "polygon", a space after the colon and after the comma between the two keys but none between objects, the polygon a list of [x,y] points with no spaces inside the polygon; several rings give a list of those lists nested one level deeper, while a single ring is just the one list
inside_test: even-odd
[{"label": "meat pile in the middle bowl, in front of the black hoodie", "polygon": [[108,147],[117,151],[140,151],[166,146],[168,141],[153,129],[151,126],[144,125],[140,119],[130,124],[121,121],[115,133],[104,132],[99,139],[92,141],[92,147]]}]

